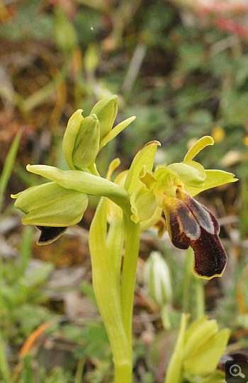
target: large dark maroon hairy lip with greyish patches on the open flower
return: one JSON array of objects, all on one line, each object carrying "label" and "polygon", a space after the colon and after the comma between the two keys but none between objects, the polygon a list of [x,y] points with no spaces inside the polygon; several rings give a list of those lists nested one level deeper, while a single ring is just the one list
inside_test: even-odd
[{"label": "large dark maroon hairy lip with greyish patches on the open flower", "polygon": [[198,277],[221,276],[227,255],[218,237],[220,226],[217,219],[183,188],[177,188],[176,197],[164,195],[163,201],[172,244],[181,249],[193,248],[193,273]]}]

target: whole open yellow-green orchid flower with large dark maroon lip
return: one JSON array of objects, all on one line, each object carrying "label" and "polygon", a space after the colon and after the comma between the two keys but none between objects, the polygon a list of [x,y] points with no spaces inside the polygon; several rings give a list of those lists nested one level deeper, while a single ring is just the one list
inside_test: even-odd
[{"label": "whole open yellow-green orchid flower with large dark maroon lip", "polygon": [[192,197],[208,188],[236,181],[232,173],[205,170],[193,161],[209,144],[213,144],[212,137],[203,137],[188,151],[183,162],[160,166],[154,173],[143,166],[140,186],[136,184],[130,197],[134,222],[152,219],[157,206],[164,211],[172,244],[181,249],[191,246],[195,253],[194,273],[207,279],[222,275],[227,256],[218,237],[217,219]]}]

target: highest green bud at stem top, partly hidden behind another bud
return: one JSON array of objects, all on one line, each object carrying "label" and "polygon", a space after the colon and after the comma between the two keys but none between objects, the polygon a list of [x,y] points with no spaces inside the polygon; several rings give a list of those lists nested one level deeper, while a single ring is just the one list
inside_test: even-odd
[{"label": "highest green bud at stem top, partly hidden behind another bud", "polygon": [[118,110],[117,100],[118,97],[115,95],[103,97],[91,110],[91,115],[97,115],[100,122],[100,142],[113,127]]}]

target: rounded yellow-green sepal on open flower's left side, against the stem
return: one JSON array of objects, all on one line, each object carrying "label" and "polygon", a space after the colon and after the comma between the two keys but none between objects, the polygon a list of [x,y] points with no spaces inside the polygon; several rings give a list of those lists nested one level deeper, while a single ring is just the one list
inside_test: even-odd
[{"label": "rounded yellow-green sepal on open flower's left side, against the stem", "polygon": [[143,186],[137,188],[130,197],[131,210],[133,212],[133,222],[142,222],[150,219],[157,209],[156,198],[152,190],[147,190]]}]

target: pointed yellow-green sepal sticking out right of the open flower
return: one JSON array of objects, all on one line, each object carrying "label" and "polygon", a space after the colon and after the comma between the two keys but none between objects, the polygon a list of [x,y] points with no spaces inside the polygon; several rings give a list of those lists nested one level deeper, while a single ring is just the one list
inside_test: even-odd
[{"label": "pointed yellow-green sepal sticking out right of the open flower", "polygon": [[205,181],[201,187],[184,185],[184,189],[189,195],[191,195],[191,197],[197,195],[198,193],[201,193],[203,190],[208,190],[210,188],[215,188],[219,185],[224,185],[225,183],[237,181],[237,178],[234,178],[235,175],[232,173],[227,173],[227,171],[206,169],[205,174]]}]

